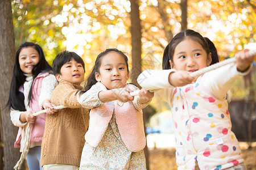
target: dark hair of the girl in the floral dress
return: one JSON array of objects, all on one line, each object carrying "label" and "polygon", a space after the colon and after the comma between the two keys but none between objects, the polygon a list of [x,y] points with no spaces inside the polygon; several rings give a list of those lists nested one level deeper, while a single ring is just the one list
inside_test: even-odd
[{"label": "dark hair of the girl in the floral dress", "polygon": [[102,57],[104,57],[106,54],[111,53],[111,52],[117,52],[117,53],[121,54],[121,56],[123,56],[123,58],[125,59],[127,71],[129,72],[127,56],[123,52],[121,52],[120,50],[118,50],[116,48],[106,49],[104,52],[101,52],[100,54],[98,54],[95,64],[93,66],[93,69],[90,72],[90,74],[88,75],[88,77],[86,78],[84,92],[88,91],[90,89],[90,87],[93,86],[93,84],[97,83],[97,80],[95,78],[95,73],[97,72],[98,74],[100,74],[100,66],[101,66]]}]

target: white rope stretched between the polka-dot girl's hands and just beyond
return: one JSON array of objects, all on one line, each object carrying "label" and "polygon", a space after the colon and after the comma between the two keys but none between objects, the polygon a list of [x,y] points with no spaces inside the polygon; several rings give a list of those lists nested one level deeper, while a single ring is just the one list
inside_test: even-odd
[{"label": "white rope stretched between the polka-dot girl's hands and just beyond", "polygon": [[[250,56],[256,56],[256,50],[250,50],[249,54],[250,54]],[[215,70],[218,67],[227,65],[227,64],[232,63],[232,62],[236,62],[236,58],[235,57],[232,57],[232,58],[229,58],[229,59],[225,59],[222,62],[214,63],[213,65],[210,65],[208,67],[204,67],[203,69],[197,70],[197,71],[195,71],[195,72],[193,72],[193,73],[191,73],[189,75],[192,76],[192,77],[199,76],[201,74],[207,73],[208,71]]]}]

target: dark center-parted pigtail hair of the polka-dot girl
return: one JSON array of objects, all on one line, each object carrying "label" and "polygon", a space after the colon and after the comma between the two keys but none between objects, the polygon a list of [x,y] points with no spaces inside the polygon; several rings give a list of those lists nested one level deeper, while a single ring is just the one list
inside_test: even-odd
[{"label": "dark center-parted pigtail hair of the polka-dot girl", "polygon": [[212,41],[210,41],[207,37],[201,36],[200,33],[196,31],[187,29],[183,32],[178,33],[176,36],[174,36],[171,42],[164,49],[163,63],[162,63],[163,70],[171,69],[171,65],[169,61],[171,60],[172,63],[174,62],[173,57],[174,57],[175,48],[186,37],[189,37],[193,41],[198,42],[203,47],[203,49],[207,52],[207,56],[209,53],[212,53],[212,62],[210,63],[210,65],[220,61],[220,57],[218,56],[216,47],[214,46]]}]

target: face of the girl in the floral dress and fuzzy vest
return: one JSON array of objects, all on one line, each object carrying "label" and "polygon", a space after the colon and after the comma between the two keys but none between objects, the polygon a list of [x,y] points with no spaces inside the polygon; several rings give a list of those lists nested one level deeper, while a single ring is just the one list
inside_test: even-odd
[{"label": "face of the girl in the floral dress and fuzzy vest", "polygon": [[95,73],[95,78],[109,90],[124,87],[129,79],[125,58],[117,52],[106,54],[101,60],[100,73]]}]

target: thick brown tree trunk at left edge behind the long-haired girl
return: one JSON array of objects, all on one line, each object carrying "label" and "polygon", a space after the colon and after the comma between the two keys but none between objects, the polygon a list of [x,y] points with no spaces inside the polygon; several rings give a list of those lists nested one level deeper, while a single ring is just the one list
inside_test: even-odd
[{"label": "thick brown tree trunk at left edge behind the long-haired girl", "polygon": [[14,148],[18,128],[10,120],[10,111],[4,109],[10,90],[11,77],[15,58],[14,29],[11,11],[11,0],[0,1],[0,98],[3,134],[3,153],[5,169],[13,169],[19,160],[19,149]]}]

